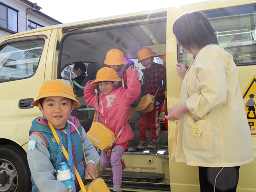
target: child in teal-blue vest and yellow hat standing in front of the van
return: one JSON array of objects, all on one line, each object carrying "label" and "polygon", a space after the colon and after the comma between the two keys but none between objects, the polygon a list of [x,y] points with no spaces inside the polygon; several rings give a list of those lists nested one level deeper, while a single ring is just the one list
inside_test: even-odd
[{"label": "child in teal-blue vest and yellow hat standing in front of the van", "polygon": [[[59,152],[62,146],[56,142],[48,123],[52,124],[62,138],[62,144],[67,151],[67,135],[70,135],[72,154],[69,156],[73,156],[74,162],[69,158],[69,163],[76,167],[83,182],[88,174],[93,180],[96,179],[95,166],[100,160],[99,155],[78,119],[70,116],[74,108],[80,107],[72,87],[60,79],[48,80],[41,86],[38,98],[32,105],[38,106],[44,114],[44,117],[32,121],[29,130],[27,158],[31,171],[32,192],[67,191],[67,186],[56,180],[55,172],[56,166],[67,159]],[[80,190],[79,185],[76,186],[76,190]]]}]

